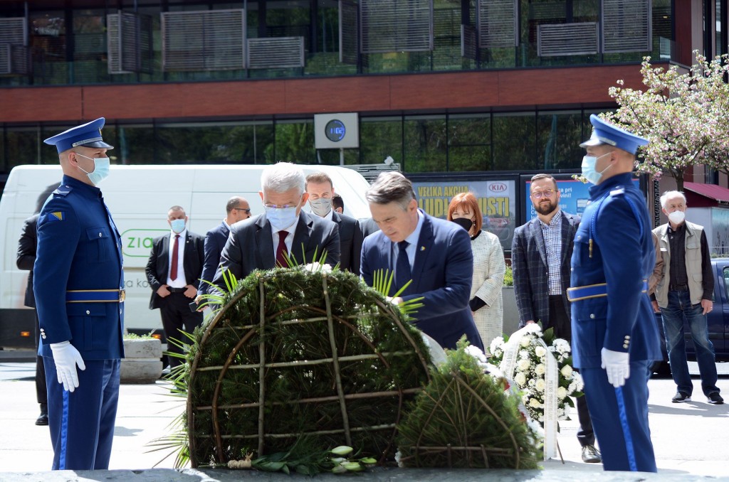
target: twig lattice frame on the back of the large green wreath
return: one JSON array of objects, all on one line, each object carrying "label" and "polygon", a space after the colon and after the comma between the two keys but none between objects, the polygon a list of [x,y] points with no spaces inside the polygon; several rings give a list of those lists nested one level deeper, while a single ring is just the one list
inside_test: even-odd
[{"label": "twig lattice frame on the back of the large green wreath", "polygon": [[[269,300],[268,295],[280,296],[272,285],[276,281],[276,277],[286,277],[286,272],[290,276],[300,277],[302,269],[276,269],[268,272],[254,272],[246,280],[249,281],[249,289],[245,288],[235,291],[228,301],[204,327],[202,333],[198,333],[194,357],[190,363],[190,373],[188,387],[195,387],[197,379],[205,372],[213,372],[215,376],[214,390],[211,400],[204,405],[195,405],[192,396],[188,394],[187,398],[187,434],[190,449],[190,462],[192,467],[198,467],[200,464],[215,462],[227,463],[229,459],[235,458],[235,451],[238,448],[231,449],[232,440],[244,442],[252,442],[257,445],[257,452],[264,455],[268,451],[268,445],[271,440],[275,439],[291,439],[295,440],[303,436],[332,436],[343,437],[343,442],[349,446],[364,446],[364,452],[367,452],[367,436],[370,434],[382,433],[387,431],[386,446],[377,454],[373,454],[381,461],[388,457],[392,457],[394,452],[394,437],[397,433],[397,423],[402,419],[405,411],[405,403],[414,398],[417,392],[422,390],[422,386],[429,381],[429,353],[426,350],[424,342],[418,336],[418,331],[413,328],[406,319],[405,315],[399,312],[397,307],[387,302],[383,297],[376,293],[372,288],[367,288],[358,277],[351,273],[345,272],[317,272],[313,274],[304,274],[306,277],[315,278],[310,280],[311,283],[321,283],[321,293],[323,295],[323,306],[314,306],[311,304],[289,304],[289,306],[276,309],[274,312],[267,312],[266,306]],[[253,278],[251,278],[253,277]],[[320,278],[320,281],[319,281]],[[255,285],[253,284],[255,282]],[[332,291],[332,283],[337,285],[339,291],[359,290],[366,291],[367,296],[371,299],[371,304],[367,310],[359,315],[343,314],[341,307],[337,307],[332,302],[330,293]],[[255,286],[255,288],[253,288]],[[258,292],[257,323],[249,323],[244,325],[235,325],[232,322],[235,317],[236,307],[243,302],[246,297],[252,296],[253,289]],[[248,305],[246,305],[248,306]],[[345,310],[346,311],[346,310]],[[254,310],[250,309],[249,320],[252,322]],[[305,317],[302,314],[306,314]],[[369,320],[369,321],[367,321]],[[376,321],[373,321],[376,320]],[[363,325],[364,323],[364,325]],[[381,323],[386,328],[389,326],[388,336],[399,336],[402,338],[405,349],[398,349],[393,352],[381,352],[381,347],[375,344],[375,341],[368,336],[366,328],[367,323]],[[285,331],[289,329],[302,329],[306,327],[325,327],[321,332],[321,337],[328,339],[330,351],[327,356],[321,356],[316,359],[305,360],[275,360],[271,353],[275,353],[273,346],[272,333]],[[307,328],[308,329],[308,328]],[[240,333],[237,343],[230,349],[229,354],[225,358],[225,362],[214,366],[205,366],[203,357],[206,353],[206,345],[211,342],[220,331],[230,331]],[[394,333],[394,334],[393,334]],[[324,339],[321,340],[324,346]],[[257,360],[254,360],[252,346],[257,344]],[[346,355],[348,347],[366,347],[370,352],[358,353],[354,355]],[[248,357],[242,357],[243,350],[247,350]],[[324,355],[324,354],[322,354]],[[416,376],[417,382],[403,385],[398,381],[397,377],[391,378],[391,387],[389,390],[356,390],[348,392],[345,387],[347,376],[343,374],[343,364],[351,363],[369,363],[371,367],[378,367],[384,370],[384,373],[391,370],[391,361],[396,357],[408,357],[409,366],[414,371],[418,371]],[[413,364],[416,366],[412,368]],[[286,373],[286,370],[297,371],[302,368],[327,367],[334,374],[332,381],[335,390],[332,394],[325,396],[301,397],[300,393],[291,393],[288,401],[269,400],[267,392],[267,373],[270,370],[279,370]],[[351,368],[351,366],[349,367]],[[257,371],[258,396],[256,400],[238,400],[238,403],[230,403],[222,396],[223,387],[226,379],[233,371],[244,370],[253,373]],[[411,376],[410,379],[413,377]],[[270,380],[268,381],[270,382]],[[370,410],[376,413],[383,404],[391,403],[394,409],[394,419],[386,421],[386,423],[371,424],[367,426],[359,426],[351,420],[351,409],[348,403],[353,400],[377,400],[378,403],[370,403]],[[397,400],[394,404],[393,402]],[[295,427],[295,421],[292,420],[292,430],[288,432],[268,432],[268,417],[271,408],[297,413],[296,406],[304,407],[301,410],[312,409],[314,406],[322,406],[327,404],[338,404],[338,416],[341,419],[341,427],[327,430],[308,430],[300,432]],[[316,405],[319,404],[319,405]],[[308,407],[307,407],[308,406]],[[234,411],[251,411],[257,409],[257,432],[256,433],[225,433],[226,419],[230,421]],[[364,408],[365,410],[367,408]],[[209,430],[206,427],[198,426],[200,414],[211,412],[211,426]],[[361,414],[362,407],[359,407],[358,414]],[[334,413],[332,407],[329,407],[329,413]],[[230,427],[228,427],[230,428]],[[380,435],[383,437],[383,435]],[[198,454],[198,439],[214,438],[215,454]],[[236,440],[237,439],[237,440]],[[364,440],[364,441],[363,441]],[[378,439],[379,440],[379,439]],[[280,448],[279,448],[280,450]],[[370,450],[370,452],[373,452]],[[204,459],[203,459],[204,457]]]}]

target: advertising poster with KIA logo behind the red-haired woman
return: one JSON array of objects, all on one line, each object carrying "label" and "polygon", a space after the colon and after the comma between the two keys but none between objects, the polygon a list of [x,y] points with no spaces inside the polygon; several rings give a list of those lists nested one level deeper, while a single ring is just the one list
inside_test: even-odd
[{"label": "advertising poster with KIA logo behind the red-haired woman", "polygon": [[413,180],[419,207],[431,216],[445,219],[448,205],[456,194],[471,191],[483,214],[483,230],[496,234],[504,250],[511,250],[515,228],[516,181],[434,181]]}]

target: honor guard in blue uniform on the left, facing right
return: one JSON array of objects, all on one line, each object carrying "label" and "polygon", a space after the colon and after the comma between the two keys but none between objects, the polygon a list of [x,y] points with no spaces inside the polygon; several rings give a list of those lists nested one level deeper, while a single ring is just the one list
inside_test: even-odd
[{"label": "honor guard in blue uniform on the left, facing right", "polygon": [[104,118],[44,142],[63,178],[38,219],[33,290],[53,470],[109,468],[124,356],[121,239],[96,187],[109,175]]}]

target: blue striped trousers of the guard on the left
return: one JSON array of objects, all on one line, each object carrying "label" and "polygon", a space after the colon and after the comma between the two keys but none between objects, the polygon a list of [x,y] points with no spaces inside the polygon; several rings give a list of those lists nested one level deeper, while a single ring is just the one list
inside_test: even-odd
[{"label": "blue striped trousers of the guard on the left", "polygon": [[120,360],[84,360],[79,387],[63,390],[52,357],[44,357],[53,470],[109,468],[119,400]]}]

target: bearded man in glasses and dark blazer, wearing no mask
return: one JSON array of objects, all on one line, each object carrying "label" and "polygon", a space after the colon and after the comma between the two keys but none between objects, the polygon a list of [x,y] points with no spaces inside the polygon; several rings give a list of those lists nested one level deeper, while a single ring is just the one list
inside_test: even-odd
[{"label": "bearded man in glasses and dark blazer, wearing no mask", "polygon": [[[557,181],[549,174],[534,175],[529,193],[537,218],[515,230],[511,246],[519,325],[540,322],[544,330],[553,328],[555,336],[572,341],[567,288],[574,233],[580,218],[559,208]],[[577,417],[582,461],[601,462],[584,395],[577,397]]]}]

